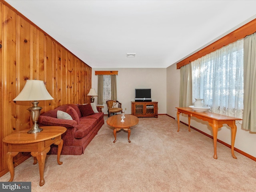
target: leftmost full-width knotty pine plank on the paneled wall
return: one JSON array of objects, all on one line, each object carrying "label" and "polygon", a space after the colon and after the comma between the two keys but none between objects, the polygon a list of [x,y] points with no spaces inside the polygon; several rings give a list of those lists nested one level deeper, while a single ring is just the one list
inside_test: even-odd
[{"label": "leftmost full-width knotty pine plank on the paneled wall", "polygon": [[[3,18],[4,19],[4,18]],[[4,19],[3,63],[2,63],[2,82],[3,82],[3,130],[4,137],[14,132],[16,128],[16,104],[12,101],[16,97],[16,14],[6,8]]]}]

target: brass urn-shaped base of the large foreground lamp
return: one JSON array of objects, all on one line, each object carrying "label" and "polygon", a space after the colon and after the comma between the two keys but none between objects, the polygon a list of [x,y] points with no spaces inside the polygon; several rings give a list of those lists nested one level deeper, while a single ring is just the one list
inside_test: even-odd
[{"label": "brass urn-shaped base of the large foreground lamp", "polygon": [[30,128],[30,130],[28,130],[28,133],[38,133],[43,130],[37,124],[42,107],[37,106],[37,104],[39,103],[38,101],[32,101],[31,103],[33,104],[33,106],[28,108],[27,110],[30,112],[30,117],[33,121],[33,126]]}]

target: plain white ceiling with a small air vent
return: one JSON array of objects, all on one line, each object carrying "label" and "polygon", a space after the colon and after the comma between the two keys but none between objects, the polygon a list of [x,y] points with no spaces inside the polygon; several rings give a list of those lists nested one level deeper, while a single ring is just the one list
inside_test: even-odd
[{"label": "plain white ceiling with a small air vent", "polygon": [[255,0],[6,2],[92,68],[166,68],[256,18]]}]

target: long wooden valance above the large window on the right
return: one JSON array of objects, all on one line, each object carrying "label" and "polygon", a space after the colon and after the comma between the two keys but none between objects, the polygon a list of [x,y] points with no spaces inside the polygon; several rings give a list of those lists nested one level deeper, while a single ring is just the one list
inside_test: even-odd
[{"label": "long wooden valance above the large window on the right", "polygon": [[213,42],[212,44],[206,46],[205,48],[199,50],[198,52],[192,54],[191,56],[185,58],[184,60],[176,64],[176,68],[180,69],[182,66],[189,64],[190,62],[201,58],[215,50],[222,48],[230,43],[236,42],[239,39],[245,38],[248,35],[254,34],[256,32],[256,19],[248,22],[242,27],[234,30],[233,32],[227,34],[226,36],[220,38],[219,40]]}]

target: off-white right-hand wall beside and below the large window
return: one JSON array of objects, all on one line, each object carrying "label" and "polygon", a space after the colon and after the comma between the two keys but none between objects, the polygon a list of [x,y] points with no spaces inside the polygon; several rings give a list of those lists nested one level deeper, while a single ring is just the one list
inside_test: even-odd
[{"label": "off-white right-hand wall beside and below the large window", "polygon": [[[171,65],[166,69],[166,90],[167,90],[167,114],[175,117],[177,119],[177,110],[175,107],[179,105],[179,92],[180,92],[180,70],[176,70],[176,65]],[[188,123],[188,116],[180,114],[180,120],[182,122]],[[209,126],[208,122],[198,120],[192,117],[190,125],[211,135],[212,128]],[[235,140],[235,148],[242,150],[243,152],[256,157],[256,134],[252,134],[248,131],[241,129],[241,124],[237,123],[237,132]],[[231,145],[231,129],[226,125],[218,130],[217,138],[227,144]],[[214,150],[212,150],[212,154]],[[236,152],[235,152],[236,154]],[[218,148],[217,148],[218,155]],[[230,150],[231,156],[231,150]],[[231,156],[232,157],[232,156]]]}]

